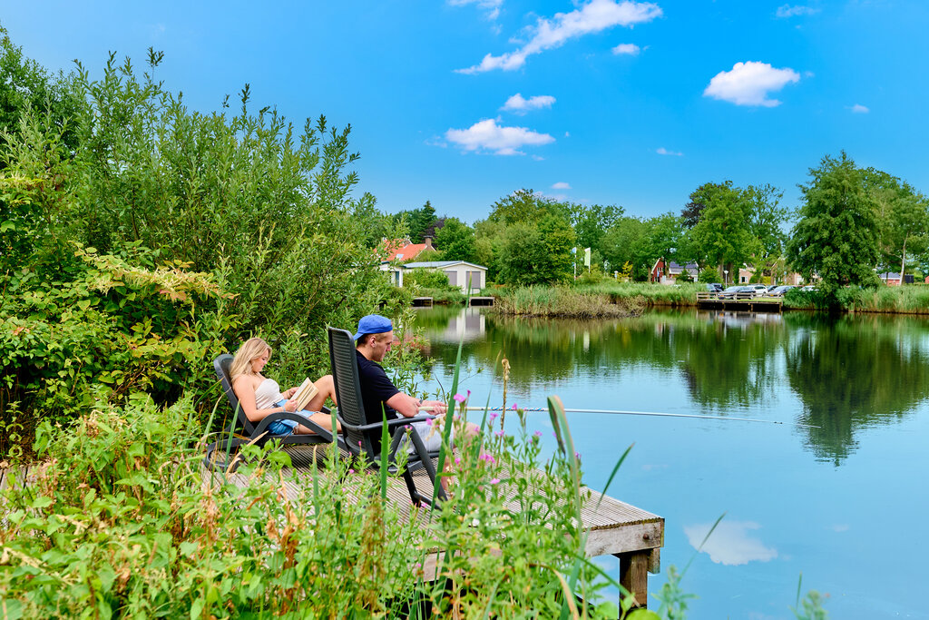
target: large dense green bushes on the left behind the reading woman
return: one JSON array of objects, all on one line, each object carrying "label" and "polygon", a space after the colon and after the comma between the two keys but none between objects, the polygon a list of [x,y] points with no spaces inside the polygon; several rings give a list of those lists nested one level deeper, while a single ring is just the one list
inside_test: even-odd
[{"label": "large dense green bushes on the left behind the reading woman", "polygon": [[350,195],[348,128],[250,112],[248,86],[234,115],[191,112],[154,80],[161,59],[78,65],[66,122],[26,106],[0,145],[3,409],[73,413],[92,383],[202,394],[204,361],[255,333],[286,351],[281,378],[319,374],[327,323],[409,302],[356,243],[384,222]]}]

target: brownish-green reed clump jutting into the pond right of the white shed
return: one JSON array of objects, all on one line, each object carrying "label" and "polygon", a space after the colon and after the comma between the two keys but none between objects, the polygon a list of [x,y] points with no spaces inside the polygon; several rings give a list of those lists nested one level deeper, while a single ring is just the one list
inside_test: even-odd
[{"label": "brownish-green reed clump jutting into the pond right of the white shed", "polygon": [[645,304],[639,297],[616,298],[571,286],[524,286],[494,289],[493,310],[517,316],[594,319],[633,316]]}]

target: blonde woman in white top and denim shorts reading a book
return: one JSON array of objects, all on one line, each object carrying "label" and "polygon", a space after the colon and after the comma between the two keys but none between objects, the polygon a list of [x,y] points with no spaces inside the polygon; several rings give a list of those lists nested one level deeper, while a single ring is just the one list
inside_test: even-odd
[{"label": "blonde woman in white top and denim shorts reading a book", "polygon": [[[239,398],[242,411],[245,412],[249,421],[258,422],[265,416],[288,411],[296,412],[297,415],[312,420],[323,429],[332,429],[335,424],[336,430],[341,430],[341,425],[334,416],[319,413],[319,409],[327,398],[335,402],[333,376],[326,375],[316,381],[313,385],[320,390],[319,393],[307,402],[306,409],[297,412],[296,402],[289,400],[297,389],[291,388],[281,393],[277,381],[261,374],[270,357],[271,348],[268,347],[267,342],[261,338],[249,338],[236,351],[232,359],[232,366],[229,369],[232,390]],[[268,432],[273,435],[290,435],[294,432],[307,434],[313,431],[294,420],[276,420],[268,425]]]}]

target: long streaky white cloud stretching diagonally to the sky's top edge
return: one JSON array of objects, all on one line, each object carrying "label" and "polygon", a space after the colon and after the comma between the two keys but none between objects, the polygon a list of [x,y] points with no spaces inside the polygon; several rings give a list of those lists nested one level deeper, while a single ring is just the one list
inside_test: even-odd
[{"label": "long streaky white cloud stretching diagonally to the sky's top edge", "polygon": [[480,64],[457,70],[459,73],[484,73],[494,69],[513,71],[523,66],[532,54],[561,46],[569,39],[599,33],[613,26],[633,26],[661,17],[661,7],[650,2],[624,0],[590,0],[570,13],[556,13],[551,20],[540,18],[529,29],[529,42],[514,52],[500,56],[486,55]]}]

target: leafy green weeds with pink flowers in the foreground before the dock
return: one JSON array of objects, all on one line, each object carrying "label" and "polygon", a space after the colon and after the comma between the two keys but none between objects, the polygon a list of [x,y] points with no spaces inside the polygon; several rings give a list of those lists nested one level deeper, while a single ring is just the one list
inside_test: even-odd
[{"label": "leafy green weeds with pink flowers in the foreground before the dock", "polygon": [[[610,583],[565,499],[580,499],[576,459],[542,462],[524,425],[462,442],[451,500],[427,527],[334,453],[295,477],[286,453],[250,446],[238,483],[204,481],[198,426],[188,399],[100,403],[72,429],[44,422],[34,481],[3,495],[7,617],[399,618],[417,601],[440,616],[552,617]],[[423,581],[428,548],[454,551],[438,556],[448,579]],[[566,590],[559,575],[572,572]],[[615,605],[586,611],[616,617]]]}]

